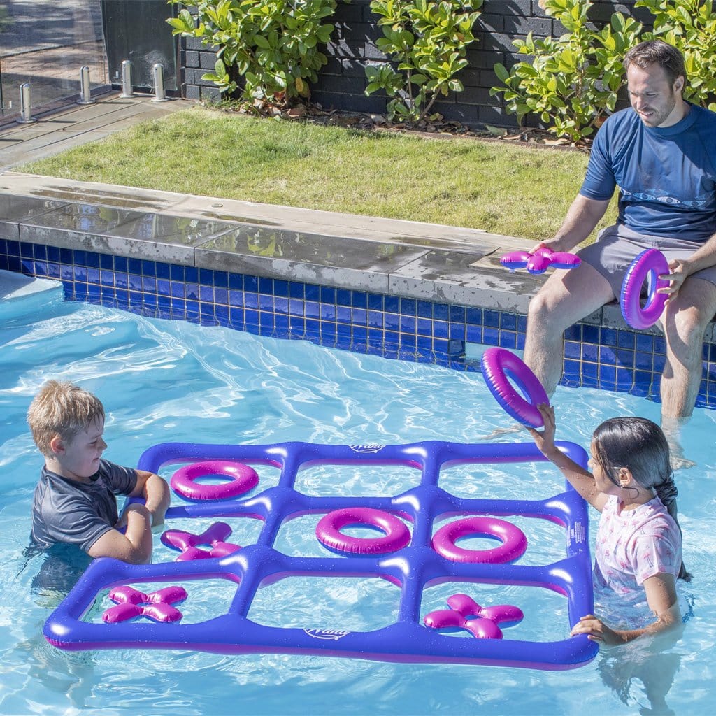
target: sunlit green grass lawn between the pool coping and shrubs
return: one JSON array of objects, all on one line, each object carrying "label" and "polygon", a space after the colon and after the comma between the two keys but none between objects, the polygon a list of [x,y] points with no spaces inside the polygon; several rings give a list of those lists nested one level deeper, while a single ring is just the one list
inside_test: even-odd
[{"label": "sunlit green grass lawn between the pool coping and shrubs", "polygon": [[558,228],[586,162],[580,152],[193,107],[18,170],[538,240]]}]

